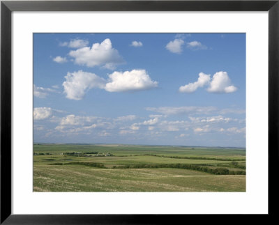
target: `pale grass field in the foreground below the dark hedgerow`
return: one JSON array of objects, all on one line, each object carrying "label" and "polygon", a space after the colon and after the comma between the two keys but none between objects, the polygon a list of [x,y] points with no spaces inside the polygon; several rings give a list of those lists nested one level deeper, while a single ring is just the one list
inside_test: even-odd
[{"label": "pale grass field in the foreground below the dark hedgerow", "polygon": [[246,176],[186,169],[34,166],[34,192],[245,192]]}]

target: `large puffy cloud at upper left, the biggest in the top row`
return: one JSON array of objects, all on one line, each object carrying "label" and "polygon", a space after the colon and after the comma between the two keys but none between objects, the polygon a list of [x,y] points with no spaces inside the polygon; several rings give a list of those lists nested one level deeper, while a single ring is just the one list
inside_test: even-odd
[{"label": "large puffy cloud at upper left, the biggest in the top row", "polygon": [[70,51],[70,56],[75,59],[78,65],[94,67],[102,65],[104,68],[113,70],[116,65],[123,63],[118,51],[112,47],[109,38],[101,43],[94,43],[92,47],[82,47],[75,51]]}]

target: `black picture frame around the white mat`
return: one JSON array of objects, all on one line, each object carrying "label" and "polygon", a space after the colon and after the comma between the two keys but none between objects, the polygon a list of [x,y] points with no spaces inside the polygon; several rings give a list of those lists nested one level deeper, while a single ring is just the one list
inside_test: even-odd
[{"label": "black picture frame around the white mat", "polygon": [[[13,11],[268,11],[269,13],[269,213],[278,200],[279,0],[246,1],[1,1],[1,224],[177,224],[201,215],[13,215],[11,214],[11,13]],[[207,222],[214,215],[207,217]],[[234,215],[227,215],[231,219]],[[243,217],[243,216],[242,216]],[[218,217],[220,219],[220,217]],[[172,222],[171,222],[172,221]],[[176,222],[175,222],[176,221]],[[216,222],[216,221],[215,221]]]}]

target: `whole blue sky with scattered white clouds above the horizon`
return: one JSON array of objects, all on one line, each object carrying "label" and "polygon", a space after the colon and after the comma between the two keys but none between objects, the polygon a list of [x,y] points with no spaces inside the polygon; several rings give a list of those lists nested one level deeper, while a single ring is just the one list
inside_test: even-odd
[{"label": "whole blue sky with scattered white clouds above the horizon", "polygon": [[245,33],[34,33],[34,141],[246,146]]}]

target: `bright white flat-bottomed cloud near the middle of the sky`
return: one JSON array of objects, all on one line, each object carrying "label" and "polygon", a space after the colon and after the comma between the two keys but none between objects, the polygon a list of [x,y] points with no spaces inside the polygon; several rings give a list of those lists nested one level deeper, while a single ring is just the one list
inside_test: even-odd
[{"label": "bright white flat-bottomed cloud near the middle of the sky", "polygon": [[158,82],[153,82],[145,70],[113,72],[109,79],[105,90],[110,92],[140,91],[158,86]]}]

